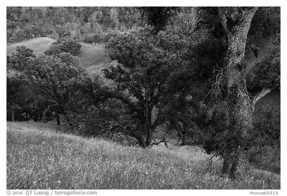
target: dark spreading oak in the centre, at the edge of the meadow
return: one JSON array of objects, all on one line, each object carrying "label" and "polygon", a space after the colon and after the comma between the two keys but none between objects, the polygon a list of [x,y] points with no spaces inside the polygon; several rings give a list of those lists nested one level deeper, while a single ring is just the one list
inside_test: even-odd
[{"label": "dark spreading oak in the centre, at the edge of the meadow", "polygon": [[126,105],[135,123],[130,133],[143,148],[152,145],[155,128],[165,122],[164,99],[173,71],[187,63],[180,58],[186,48],[174,50],[181,40],[166,32],[150,35],[148,29],[119,35],[107,44],[110,57],[117,60],[104,70],[115,82],[110,96]]}]

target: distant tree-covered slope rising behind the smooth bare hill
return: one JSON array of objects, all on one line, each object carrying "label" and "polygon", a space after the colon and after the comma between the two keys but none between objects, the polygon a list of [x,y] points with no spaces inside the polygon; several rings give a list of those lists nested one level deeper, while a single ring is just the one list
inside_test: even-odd
[{"label": "distant tree-covered slope rising behind the smooth bare hill", "polygon": [[[97,35],[101,37],[100,42],[107,42],[105,32],[109,28],[126,31],[128,10],[128,7],[7,7],[7,41],[18,42],[49,35],[51,38],[72,37],[95,42],[91,37]],[[130,20],[129,23],[132,27],[136,21]],[[82,32],[78,33],[80,30]]]}]

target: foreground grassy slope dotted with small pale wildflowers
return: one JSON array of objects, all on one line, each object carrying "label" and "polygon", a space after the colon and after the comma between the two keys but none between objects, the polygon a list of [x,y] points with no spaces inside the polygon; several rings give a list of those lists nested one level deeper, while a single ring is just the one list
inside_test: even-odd
[{"label": "foreground grassy slope dotted with small pale wildflowers", "polygon": [[7,122],[6,133],[7,189],[280,189],[280,175],[257,169],[242,181],[223,179],[220,163],[208,167],[194,150],[186,158],[123,147],[41,123]]}]

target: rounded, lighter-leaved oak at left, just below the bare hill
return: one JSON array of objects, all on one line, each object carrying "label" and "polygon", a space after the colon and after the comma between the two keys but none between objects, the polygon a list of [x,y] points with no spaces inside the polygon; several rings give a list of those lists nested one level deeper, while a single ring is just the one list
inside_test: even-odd
[{"label": "rounded, lighter-leaved oak at left, just below the bare hill", "polygon": [[[34,94],[49,103],[45,112],[53,109],[57,123],[60,124],[58,115],[66,116],[70,97],[73,96],[69,80],[84,73],[79,58],[66,52],[57,56],[40,54],[29,59],[25,73],[31,82]],[[45,113],[43,118],[45,121]]]}]

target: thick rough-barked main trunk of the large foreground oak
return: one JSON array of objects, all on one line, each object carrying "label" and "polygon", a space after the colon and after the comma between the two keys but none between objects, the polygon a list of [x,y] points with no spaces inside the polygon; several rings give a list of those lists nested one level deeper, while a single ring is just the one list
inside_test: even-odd
[{"label": "thick rough-barked main trunk of the large foreground oak", "polygon": [[246,89],[244,57],[247,33],[257,7],[220,7],[221,22],[228,37],[224,59],[227,82],[228,126],[222,172],[229,178],[241,178],[249,170],[248,133],[254,104]]}]

